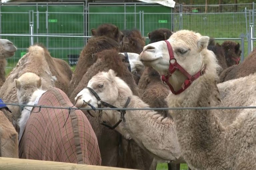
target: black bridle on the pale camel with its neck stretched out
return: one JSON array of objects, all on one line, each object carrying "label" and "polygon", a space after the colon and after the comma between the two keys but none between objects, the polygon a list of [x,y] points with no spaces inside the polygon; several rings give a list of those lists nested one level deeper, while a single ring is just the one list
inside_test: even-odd
[{"label": "black bridle on the pale camel with its neck stretched out", "polygon": [[[106,103],[106,102],[103,102],[103,101],[100,99],[100,97],[98,96],[98,94],[97,94],[92,88],[90,88],[90,87],[85,87],[85,89],[88,89],[88,90],[94,95],[94,97],[97,99],[98,108],[102,108],[102,105],[105,106],[105,107],[109,107],[109,108],[117,108],[117,107],[115,107],[115,106],[113,106],[113,105],[111,105],[111,104],[108,104],[108,103]],[[130,101],[131,101],[131,99],[128,97],[128,99],[127,99],[127,101],[126,101],[126,103],[125,103],[125,105],[124,105],[124,108],[126,108],[126,107],[128,106],[128,104],[130,103]],[[84,102],[85,102],[85,101],[84,101]],[[85,102],[85,103],[88,104],[88,106],[90,106],[94,111],[96,111],[96,110],[95,110],[95,107],[92,106],[90,103],[87,103],[87,102]],[[108,124],[106,124],[105,122],[103,122],[103,121],[101,120],[102,110],[99,110],[100,114],[99,114],[98,117],[97,117],[99,123],[100,123],[101,125],[104,125],[104,126],[110,128],[110,129],[115,129],[122,121],[125,122],[124,115],[125,115],[126,111],[125,111],[125,110],[116,110],[116,111],[120,112],[120,113],[121,113],[121,116],[120,116],[119,121],[118,121],[114,126],[109,126]],[[87,111],[87,113],[88,113],[90,116],[92,116],[89,111]],[[94,117],[94,116],[92,116],[92,117]]]}]

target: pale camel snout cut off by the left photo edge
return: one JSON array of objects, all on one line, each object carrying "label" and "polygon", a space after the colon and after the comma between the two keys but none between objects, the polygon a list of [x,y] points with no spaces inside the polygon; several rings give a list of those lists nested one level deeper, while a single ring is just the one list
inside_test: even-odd
[{"label": "pale camel snout cut off by the left photo edge", "polygon": [[17,48],[12,42],[6,39],[0,39],[0,59],[8,58],[14,55]]}]

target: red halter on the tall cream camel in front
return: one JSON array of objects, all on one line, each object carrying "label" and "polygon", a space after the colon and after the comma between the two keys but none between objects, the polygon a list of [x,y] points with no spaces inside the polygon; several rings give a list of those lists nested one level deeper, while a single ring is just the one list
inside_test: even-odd
[{"label": "red halter on the tall cream camel in front", "polygon": [[[165,42],[167,43],[167,47],[168,47],[168,51],[169,51],[169,55],[170,55],[170,66],[169,66],[169,70],[168,70],[169,74],[166,76],[162,75],[162,81],[165,82],[169,86],[169,88],[173,94],[177,95],[177,94],[180,94],[181,92],[183,92],[184,90],[186,90],[194,80],[196,80],[198,77],[203,75],[205,73],[206,66],[204,65],[202,70],[197,72],[195,75],[191,76],[186,70],[184,70],[184,68],[182,68],[182,66],[180,64],[177,63],[177,60],[174,58],[174,54],[173,54],[172,46],[171,46],[170,42],[168,42],[166,40],[165,40]],[[171,60],[175,60],[175,62],[172,64]],[[176,71],[177,69],[180,70],[180,72],[182,74],[184,74],[188,79],[185,80],[185,82],[182,84],[181,88],[178,91],[175,91],[168,80],[172,76],[172,73],[174,73],[174,71]]]}]

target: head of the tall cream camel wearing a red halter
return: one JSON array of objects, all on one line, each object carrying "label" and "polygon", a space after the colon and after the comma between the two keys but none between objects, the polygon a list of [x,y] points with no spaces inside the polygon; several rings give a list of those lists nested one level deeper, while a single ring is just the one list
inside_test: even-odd
[{"label": "head of the tall cream camel wearing a red halter", "polygon": [[[209,37],[201,36],[199,33],[181,30],[174,33],[167,41],[170,43],[169,49],[168,42],[154,42],[144,46],[139,57],[144,65],[152,66],[160,75],[171,75],[168,82],[176,91],[183,88],[187,76],[180,69],[169,74],[170,65],[175,64],[175,60],[192,76],[203,70],[206,64],[204,61],[206,53],[211,53],[211,57],[215,56],[213,52],[207,50]],[[171,50],[173,54],[169,53]],[[172,59],[170,59],[170,55],[173,55]]]}]

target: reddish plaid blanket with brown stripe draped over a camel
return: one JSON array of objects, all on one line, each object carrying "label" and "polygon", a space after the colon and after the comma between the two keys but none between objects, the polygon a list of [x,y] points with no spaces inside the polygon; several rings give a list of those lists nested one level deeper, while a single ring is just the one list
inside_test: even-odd
[{"label": "reddish plaid blanket with brown stripe draped over a camel", "polygon": [[[73,106],[58,88],[46,91],[38,105]],[[39,108],[33,108],[33,112],[39,112]],[[82,111],[71,111],[69,117],[67,109],[41,108],[39,113],[33,112],[19,143],[20,158],[101,165],[96,135]]]}]

